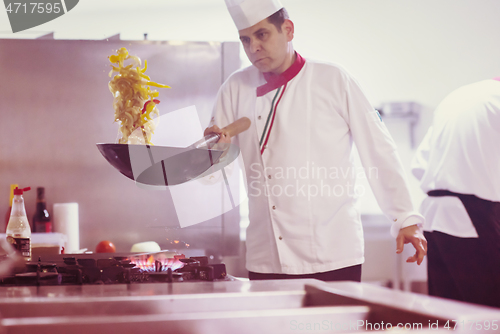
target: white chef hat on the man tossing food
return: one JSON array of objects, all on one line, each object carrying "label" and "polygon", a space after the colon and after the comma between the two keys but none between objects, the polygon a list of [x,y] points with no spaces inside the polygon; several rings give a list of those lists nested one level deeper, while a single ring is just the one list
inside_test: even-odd
[{"label": "white chef hat on the man tossing food", "polygon": [[283,8],[280,0],[225,0],[238,30],[246,29]]}]

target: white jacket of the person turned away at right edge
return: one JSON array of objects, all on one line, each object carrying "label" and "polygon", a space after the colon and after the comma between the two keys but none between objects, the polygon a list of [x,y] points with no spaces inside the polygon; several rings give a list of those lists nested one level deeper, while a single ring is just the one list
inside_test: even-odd
[{"label": "white jacket of the person turned away at right edge", "polygon": [[[443,189],[500,202],[500,82],[484,80],[449,94],[412,161],[424,192]],[[425,231],[477,238],[457,197],[427,197]]]}]

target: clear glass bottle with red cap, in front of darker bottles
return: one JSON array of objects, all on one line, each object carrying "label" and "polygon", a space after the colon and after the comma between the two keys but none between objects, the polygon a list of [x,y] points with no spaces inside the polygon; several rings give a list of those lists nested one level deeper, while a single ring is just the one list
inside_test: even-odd
[{"label": "clear glass bottle with red cap, in front of darker bottles", "polygon": [[26,217],[23,193],[30,190],[30,187],[14,189],[14,199],[10,212],[9,223],[7,224],[7,242],[10,243],[17,252],[26,260],[31,261],[31,229]]}]

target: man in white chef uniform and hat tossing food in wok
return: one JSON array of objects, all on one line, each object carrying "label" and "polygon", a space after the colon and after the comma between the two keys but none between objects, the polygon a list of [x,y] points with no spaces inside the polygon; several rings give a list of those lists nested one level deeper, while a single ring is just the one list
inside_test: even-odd
[{"label": "man in white chef uniform and hat tossing food in wok", "polygon": [[[211,126],[241,117],[250,225],[250,279],[361,280],[363,229],[356,198],[367,178],[392,222],[397,253],[411,243],[426,254],[423,216],[414,211],[396,147],[380,115],[342,67],[303,58],[279,0],[226,0],[252,65],[222,85]],[[353,143],[363,167],[353,165]]]}]

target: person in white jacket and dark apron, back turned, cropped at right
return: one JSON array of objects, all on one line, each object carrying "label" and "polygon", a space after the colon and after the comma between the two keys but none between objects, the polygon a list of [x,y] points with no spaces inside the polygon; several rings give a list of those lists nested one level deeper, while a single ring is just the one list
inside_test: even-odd
[{"label": "person in white jacket and dark apron, back turned, cropped at right", "polygon": [[436,108],[412,162],[429,195],[429,294],[500,307],[500,78],[458,88]]}]

